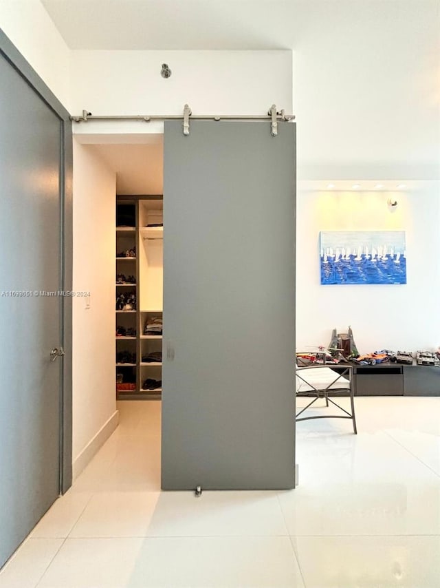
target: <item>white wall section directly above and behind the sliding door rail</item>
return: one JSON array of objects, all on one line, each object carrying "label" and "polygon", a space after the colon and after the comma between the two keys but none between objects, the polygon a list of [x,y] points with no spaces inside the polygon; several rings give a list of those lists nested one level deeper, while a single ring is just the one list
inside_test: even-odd
[{"label": "white wall section directly above and behind the sliding door rail", "polygon": [[[160,75],[162,63],[173,74]],[[267,114],[292,110],[291,51],[72,52],[72,114]],[[76,133],[146,133],[151,123],[86,123]]]}]

